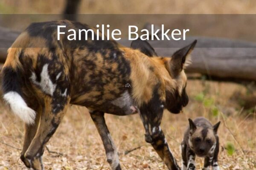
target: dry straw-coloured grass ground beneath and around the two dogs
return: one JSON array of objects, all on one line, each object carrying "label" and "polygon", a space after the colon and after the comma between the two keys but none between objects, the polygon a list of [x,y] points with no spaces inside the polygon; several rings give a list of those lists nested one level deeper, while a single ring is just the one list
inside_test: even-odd
[{"label": "dry straw-coloured grass ground beneath and around the two dogs", "polygon": [[[241,99],[245,99],[248,95],[252,97],[251,94],[247,94],[247,89],[234,83],[189,80],[187,91],[190,102],[184,108],[183,113],[175,115],[166,112],[162,121],[162,129],[179,164],[181,161],[179,144],[188,125],[187,119],[205,116],[212,123],[218,120],[222,121],[218,131],[221,142],[219,154],[221,169],[256,169],[255,111],[245,111],[240,106]],[[204,91],[203,102],[201,102],[202,91]],[[234,94],[236,95],[234,96]],[[253,95],[255,98],[255,94]],[[255,105],[256,103],[254,103]],[[213,116],[212,107],[217,107],[220,112],[223,112],[230,131],[224,126],[221,113]],[[13,148],[22,147],[23,123],[13,116],[3,104],[0,108],[0,170],[24,169],[24,165],[19,159],[20,150]],[[254,112],[254,114],[248,116],[248,112]],[[144,130],[139,115],[123,117],[106,115],[105,117],[119,149],[120,162],[124,170],[167,169],[151,145],[144,142]],[[3,142],[12,147],[3,144]],[[236,149],[232,156],[224,149],[228,143],[233,144]],[[52,151],[64,154],[64,156],[56,157],[55,154],[49,154],[45,151],[43,160],[47,170],[109,170],[101,139],[86,108],[70,107],[47,146]],[[138,146],[142,147],[127,155],[124,154],[126,150]],[[198,158],[197,167],[201,168],[202,165],[203,159]]]}]

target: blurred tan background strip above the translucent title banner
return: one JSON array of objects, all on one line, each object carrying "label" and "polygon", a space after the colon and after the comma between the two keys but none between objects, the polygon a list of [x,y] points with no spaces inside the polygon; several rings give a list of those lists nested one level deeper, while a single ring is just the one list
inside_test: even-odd
[{"label": "blurred tan background strip above the translucent title banner", "polygon": [[[61,14],[65,0],[1,0],[1,14]],[[79,14],[255,14],[256,0],[82,0]]]}]

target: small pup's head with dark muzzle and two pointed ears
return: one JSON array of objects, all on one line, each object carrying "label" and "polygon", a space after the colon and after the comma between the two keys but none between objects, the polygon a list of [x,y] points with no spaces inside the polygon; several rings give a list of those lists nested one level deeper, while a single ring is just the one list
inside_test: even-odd
[{"label": "small pup's head with dark muzzle and two pointed ears", "polygon": [[216,136],[220,122],[212,127],[196,126],[189,119],[189,147],[199,157],[207,156],[215,151]]}]

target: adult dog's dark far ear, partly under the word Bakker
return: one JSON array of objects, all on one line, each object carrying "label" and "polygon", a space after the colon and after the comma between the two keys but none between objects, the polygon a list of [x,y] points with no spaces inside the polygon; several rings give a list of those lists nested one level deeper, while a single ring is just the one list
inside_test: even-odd
[{"label": "adult dog's dark far ear, partly under the word Bakker", "polygon": [[154,48],[145,40],[133,40],[131,42],[131,48],[140,50],[140,52],[147,55],[148,57],[157,56]]}]

